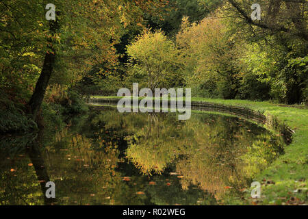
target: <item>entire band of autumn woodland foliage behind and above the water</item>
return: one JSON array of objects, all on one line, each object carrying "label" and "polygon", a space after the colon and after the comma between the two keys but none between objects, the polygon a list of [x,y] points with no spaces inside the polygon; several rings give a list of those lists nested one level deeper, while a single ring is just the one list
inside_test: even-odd
[{"label": "entire band of autumn woodland foliage behind and above the water", "polygon": [[0,3],[1,107],[13,117],[35,120],[58,86],[76,99],[133,82],[307,104],[306,1],[260,1],[259,21],[251,0],[55,0],[56,21],[46,20],[47,3]]}]

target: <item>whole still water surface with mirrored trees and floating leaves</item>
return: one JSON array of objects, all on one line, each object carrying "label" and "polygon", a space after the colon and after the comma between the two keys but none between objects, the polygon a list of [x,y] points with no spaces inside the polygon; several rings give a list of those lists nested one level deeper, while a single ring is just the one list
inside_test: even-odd
[{"label": "whole still water surface with mirrored trees and floating leaves", "polygon": [[240,118],[108,109],[39,139],[5,136],[0,150],[1,205],[214,205],[283,153],[277,137]]}]

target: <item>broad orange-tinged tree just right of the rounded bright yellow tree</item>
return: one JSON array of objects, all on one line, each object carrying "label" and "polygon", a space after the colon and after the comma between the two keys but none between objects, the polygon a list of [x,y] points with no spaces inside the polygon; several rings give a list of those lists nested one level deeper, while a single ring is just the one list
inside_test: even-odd
[{"label": "broad orange-tinged tree just right of the rounded bright yellow tree", "polygon": [[210,96],[216,93],[225,99],[235,98],[239,86],[240,50],[220,19],[205,18],[199,24],[190,24],[183,18],[177,44],[188,86],[203,86]]}]

